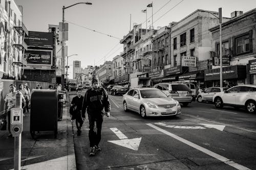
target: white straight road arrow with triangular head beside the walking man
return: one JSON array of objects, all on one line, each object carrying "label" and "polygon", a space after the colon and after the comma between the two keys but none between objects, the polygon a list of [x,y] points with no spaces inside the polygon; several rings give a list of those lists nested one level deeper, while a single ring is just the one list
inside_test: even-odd
[{"label": "white straight road arrow with triangular head beside the walking man", "polygon": [[109,140],[108,142],[118,144],[121,147],[129,148],[134,151],[138,151],[141,137],[139,138],[134,138],[134,139],[128,139],[120,130],[117,128],[110,128],[119,139],[121,140]]}]

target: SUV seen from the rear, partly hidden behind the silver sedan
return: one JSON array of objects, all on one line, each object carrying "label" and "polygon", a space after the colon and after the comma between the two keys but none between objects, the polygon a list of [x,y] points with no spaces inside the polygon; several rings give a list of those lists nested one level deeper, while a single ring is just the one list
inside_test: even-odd
[{"label": "SUV seen from the rear, partly hidden behind the silver sedan", "polygon": [[183,83],[159,83],[154,86],[162,90],[167,96],[187,106],[192,102],[192,91]]}]

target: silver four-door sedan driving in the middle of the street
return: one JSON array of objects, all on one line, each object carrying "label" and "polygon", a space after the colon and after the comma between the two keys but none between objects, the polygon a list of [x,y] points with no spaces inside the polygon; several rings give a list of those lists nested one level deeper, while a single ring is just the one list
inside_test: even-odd
[{"label": "silver four-door sedan driving in the middle of the street", "polygon": [[124,111],[132,110],[147,116],[169,116],[181,113],[178,101],[168,98],[157,88],[133,88],[123,95]]}]

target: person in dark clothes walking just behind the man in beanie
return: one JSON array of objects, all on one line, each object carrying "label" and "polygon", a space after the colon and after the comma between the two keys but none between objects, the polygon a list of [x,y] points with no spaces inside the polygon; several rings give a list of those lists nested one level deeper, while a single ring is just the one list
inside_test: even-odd
[{"label": "person in dark clothes walking just behind the man in beanie", "polygon": [[70,114],[72,115],[71,120],[76,119],[76,128],[77,128],[77,136],[81,135],[81,127],[83,124],[82,119],[82,102],[83,102],[83,96],[82,96],[82,90],[76,90],[77,96],[75,96],[72,99],[72,106],[70,107]]}]

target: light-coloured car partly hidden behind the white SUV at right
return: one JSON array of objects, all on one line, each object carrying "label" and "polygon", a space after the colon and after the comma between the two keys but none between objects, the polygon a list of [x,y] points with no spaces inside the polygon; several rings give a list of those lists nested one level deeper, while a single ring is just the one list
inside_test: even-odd
[{"label": "light-coloured car partly hidden behind the white SUV at right", "polygon": [[198,102],[204,102],[204,101],[210,101],[212,102],[212,97],[218,93],[223,92],[224,90],[227,90],[226,87],[209,87],[205,91],[199,93],[197,95],[197,101]]}]

